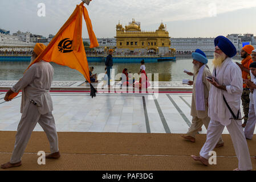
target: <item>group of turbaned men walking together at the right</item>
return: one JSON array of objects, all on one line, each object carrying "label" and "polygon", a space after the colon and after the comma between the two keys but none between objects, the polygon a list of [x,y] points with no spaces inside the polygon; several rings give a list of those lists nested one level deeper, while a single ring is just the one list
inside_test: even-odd
[{"label": "group of turbaned men walking together at the right", "polygon": [[[238,158],[238,168],[235,170],[251,170],[251,158],[247,146],[247,139],[253,137],[256,115],[254,109],[254,96],[256,99],[256,59],[251,59],[251,54],[256,50],[247,45],[242,48],[242,64],[234,63],[232,57],[237,54],[237,49],[224,36],[214,40],[215,52],[213,59],[213,73],[207,66],[208,59],[204,52],[197,49],[192,53],[194,73],[192,94],[192,125],[186,135],[181,135],[186,140],[196,142],[196,134],[202,125],[207,129],[207,137],[201,148],[200,156],[192,155],[196,161],[208,166],[209,152],[216,147],[224,146],[221,134],[224,127],[230,133],[235,154]],[[241,117],[241,100],[245,117]],[[249,115],[248,115],[249,113]],[[242,119],[245,122],[242,125]],[[245,126],[246,125],[246,126]],[[245,126],[245,131],[243,127]]]}]

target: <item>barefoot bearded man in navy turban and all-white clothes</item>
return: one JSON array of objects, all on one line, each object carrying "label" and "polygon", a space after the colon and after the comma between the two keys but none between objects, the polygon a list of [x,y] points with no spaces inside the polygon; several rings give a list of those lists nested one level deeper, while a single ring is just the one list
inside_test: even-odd
[{"label": "barefoot bearded man in navy turban and all-white clothes", "polygon": [[213,60],[214,70],[212,81],[209,80],[212,87],[208,101],[208,115],[211,120],[200,156],[192,155],[192,158],[208,166],[209,152],[214,150],[226,126],[238,158],[238,168],[235,170],[248,171],[253,168],[242,129],[240,111],[243,92],[242,72],[231,59],[237,54],[237,49],[224,36],[218,36],[214,40],[214,44],[216,46]]}]

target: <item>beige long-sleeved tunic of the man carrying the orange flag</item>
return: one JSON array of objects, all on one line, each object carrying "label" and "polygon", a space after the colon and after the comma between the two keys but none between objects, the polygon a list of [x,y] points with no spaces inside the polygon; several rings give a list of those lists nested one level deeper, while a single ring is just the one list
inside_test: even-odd
[{"label": "beige long-sleeved tunic of the man carrying the orange flag", "polygon": [[21,113],[26,113],[30,100],[38,104],[40,114],[47,114],[53,110],[50,96],[53,75],[52,65],[46,61],[39,61],[33,64],[11,88],[16,93],[22,90]]}]

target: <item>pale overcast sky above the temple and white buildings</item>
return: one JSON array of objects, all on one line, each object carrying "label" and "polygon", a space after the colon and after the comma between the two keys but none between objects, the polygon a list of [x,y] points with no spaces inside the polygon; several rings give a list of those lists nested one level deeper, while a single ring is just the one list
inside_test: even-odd
[{"label": "pale overcast sky above the temple and white buildings", "polygon": [[[48,37],[56,34],[80,0],[1,0],[0,28],[30,31]],[[39,17],[38,3],[46,5]],[[97,38],[113,38],[116,24],[132,18],[142,30],[155,31],[161,20],[169,36],[216,37],[251,33],[256,36],[255,0],[92,0],[88,9]],[[85,24],[85,22],[84,22]],[[83,38],[88,38],[83,28]]]}]

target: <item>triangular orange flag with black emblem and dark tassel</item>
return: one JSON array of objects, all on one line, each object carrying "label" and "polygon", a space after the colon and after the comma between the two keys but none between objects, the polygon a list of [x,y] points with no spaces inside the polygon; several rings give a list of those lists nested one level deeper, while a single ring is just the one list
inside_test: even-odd
[{"label": "triangular orange flag with black emblem and dark tassel", "polygon": [[[76,69],[83,74],[91,85],[88,61],[82,39],[83,16],[86,20],[87,30],[91,41],[90,48],[99,46],[99,43],[92,30],[92,23],[88,11],[83,5],[84,2],[80,5],[76,5],[75,11],[67,22],[60,28],[59,32],[51,40],[44,51],[36,57],[27,69],[40,60],[54,62]],[[96,92],[97,90],[91,85],[91,96],[95,97]]]}]

